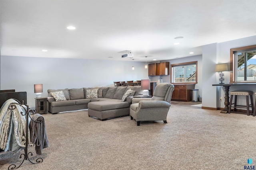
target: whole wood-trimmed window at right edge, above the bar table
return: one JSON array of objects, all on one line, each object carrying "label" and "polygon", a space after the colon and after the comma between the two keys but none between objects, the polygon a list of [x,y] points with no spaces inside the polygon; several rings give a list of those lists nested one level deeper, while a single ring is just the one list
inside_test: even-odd
[{"label": "whole wood-trimmed window at right edge, above the bar table", "polygon": [[230,49],[230,82],[256,82],[256,45]]}]

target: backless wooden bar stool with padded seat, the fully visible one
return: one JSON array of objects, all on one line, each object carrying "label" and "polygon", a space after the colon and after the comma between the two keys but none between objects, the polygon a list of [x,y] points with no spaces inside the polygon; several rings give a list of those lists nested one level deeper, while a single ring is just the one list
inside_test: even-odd
[{"label": "backless wooden bar stool with padded seat, the fully visible one", "polygon": [[[253,105],[253,99],[252,99],[252,91],[246,91],[246,90],[237,90],[237,91],[232,91],[230,92],[230,102],[229,102],[229,107],[228,107],[228,113],[231,111],[231,107],[234,108],[234,111],[232,113],[242,113],[236,111],[236,108],[246,108],[247,110],[247,115],[250,115],[250,107],[252,107],[252,112],[254,111],[254,105]],[[233,96],[235,96],[235,102],[232,103]],[[241,106],[237,105],[237,96],[246,96],[246,106]],[[249,104],[249,96],[251,99],[251,104]],[[234,104],[234,106],[232,106]]]}]

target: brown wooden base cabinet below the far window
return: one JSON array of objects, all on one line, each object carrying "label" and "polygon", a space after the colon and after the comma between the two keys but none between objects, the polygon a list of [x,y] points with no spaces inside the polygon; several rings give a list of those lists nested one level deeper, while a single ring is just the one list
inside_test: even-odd
[{"label": "brown wooden base cabinet below the far window", "polygon": [[174,91],[172,92],[173,101],[190,102],[191,101],[191,89],[195,88],[195,84],[179,84],[174,85]]}]

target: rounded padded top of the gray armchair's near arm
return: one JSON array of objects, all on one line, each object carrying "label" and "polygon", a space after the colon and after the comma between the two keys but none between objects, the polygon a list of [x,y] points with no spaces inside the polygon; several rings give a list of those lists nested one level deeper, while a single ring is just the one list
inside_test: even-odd
[{"label": "rounded padded top of the gray armchair's near arm", "polygon": [[170,103],[164,101],[164,100],[142,100],[139,102],[139,108],[144,109],[144,108],[159,108],[159,107],[166,107],[169,108],[171,106]]}]

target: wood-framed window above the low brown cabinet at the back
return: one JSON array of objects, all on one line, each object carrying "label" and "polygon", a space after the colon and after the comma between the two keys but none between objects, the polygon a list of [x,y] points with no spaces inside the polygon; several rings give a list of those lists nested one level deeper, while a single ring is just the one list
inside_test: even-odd
[{"label": "wood-framed window above the low brown cabinet at the back", "polygon": [[197,83],[197,61],[171,64],[172,83]]}]

